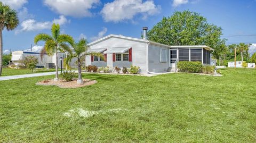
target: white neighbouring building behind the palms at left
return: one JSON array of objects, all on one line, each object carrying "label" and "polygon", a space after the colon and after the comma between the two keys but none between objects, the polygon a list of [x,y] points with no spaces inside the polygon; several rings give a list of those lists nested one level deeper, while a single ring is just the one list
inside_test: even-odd
[{"label": "white neighbouring building behind the palms at left", "polygon": [[[44,68],[46,66],[46,64],[51,64],[53,63],[55,65],[55,54],[53,54],[53,56],[49,56],[44,54],[43,55],[43,59],[41,59],[41,54],[40,52],[31,52],[31,51],[15,51],[12,52],[12,59],[10,61],[10,63],[13,63],[15,65],[18,65],[20,63],[20,60],[25,58],[26,56],[35,56],[38,59],[38,64],[36,65],[37,68]],[[59,61],[58,61],[58,66],[60,68],[60,57],[66,57],[65,53],[58,53],[58,57],[59,57]],[[75,68],[76,64],[75,64],[76,60],[72,60],[71,62],[71,67]],[[63,61],[62,61],[62,66],[63,66]]]}]

